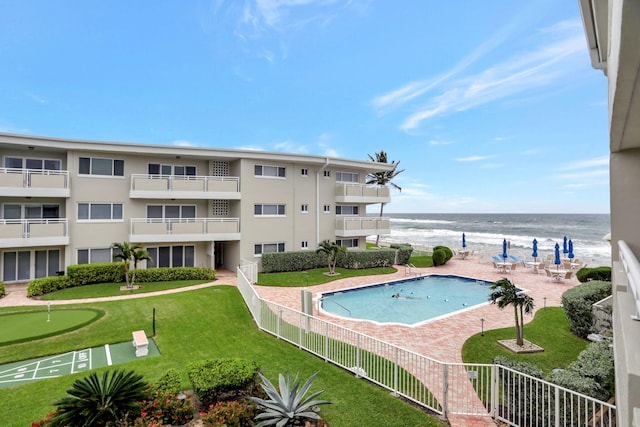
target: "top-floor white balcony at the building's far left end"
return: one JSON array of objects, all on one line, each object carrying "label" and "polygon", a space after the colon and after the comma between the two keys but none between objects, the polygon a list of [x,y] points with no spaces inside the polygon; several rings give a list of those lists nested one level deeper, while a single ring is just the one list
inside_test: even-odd
[{"label": "top-floor white balcony at the building's far left end", "polygon": [[69,197],[69,172],[0,168],[0,196]]}]

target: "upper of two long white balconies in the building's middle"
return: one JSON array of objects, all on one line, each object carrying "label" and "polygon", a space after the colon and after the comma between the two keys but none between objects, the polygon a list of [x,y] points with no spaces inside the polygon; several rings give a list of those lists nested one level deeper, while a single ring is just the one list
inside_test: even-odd
[{"label": "upper of two long white balconies in the building's middle", "polygon": [[234,176],[131,175],[132,199],[240,200],[240,178]]}]

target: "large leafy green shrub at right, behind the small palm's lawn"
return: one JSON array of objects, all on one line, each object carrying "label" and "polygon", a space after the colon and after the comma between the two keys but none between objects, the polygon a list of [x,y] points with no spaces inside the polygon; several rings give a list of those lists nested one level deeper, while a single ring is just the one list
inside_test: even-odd
[{"label": "large leafy green shrub at right, behind the small palm's lawn", "polygon": [[611,295],[611,282],[586,282],[562,294],[564,310],[571,332],[581,338],[594,331],[594,318],[591,306]]}]

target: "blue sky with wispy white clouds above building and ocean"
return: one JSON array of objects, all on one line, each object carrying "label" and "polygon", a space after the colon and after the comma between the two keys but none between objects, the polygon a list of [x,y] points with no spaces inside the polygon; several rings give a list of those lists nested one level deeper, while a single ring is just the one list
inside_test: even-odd
[{"label": "blue sky with wispy white clouds above building and ocean", "polygon": [[0,0],[0,64],[2,132],[385,150],[385,212],[609,212],[577,0]]}]

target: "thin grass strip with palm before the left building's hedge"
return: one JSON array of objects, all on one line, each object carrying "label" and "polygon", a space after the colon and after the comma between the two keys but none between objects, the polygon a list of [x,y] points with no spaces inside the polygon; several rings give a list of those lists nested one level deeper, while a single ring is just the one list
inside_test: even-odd
[{"label": "thin grass strip with palm before the left building's hedge", "polygon": [[173,282],[149,282],[136,283],[138,289],[121,291],[124,283],[99,283],[96,285],[76,286],[73,288],[62,289],[57,292],[45,294],[43,300],[67,300],[67,299],[83,299],[83,298],[99,298],[113,297],[117,295],[143,294],[146,292],[164,291],[166,289],[182,288],[185,286],[199,285],[207,283],[208,280],[179,280]]}]

